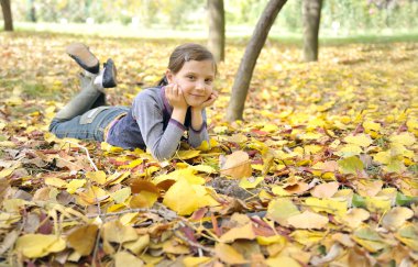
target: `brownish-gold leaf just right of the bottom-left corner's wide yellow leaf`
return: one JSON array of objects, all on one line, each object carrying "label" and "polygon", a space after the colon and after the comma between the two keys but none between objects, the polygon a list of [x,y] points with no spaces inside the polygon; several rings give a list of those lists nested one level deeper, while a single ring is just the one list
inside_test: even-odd
[{"label": "brownish-gold leaf just right of the bottom-left corner's wide yellow leaf", "polygon": [[96,224],[84,225],[72,231],[67,236],[67,242],[70,247],[77,251],[81,256],[90,255],[96,245],[98,232]]}]

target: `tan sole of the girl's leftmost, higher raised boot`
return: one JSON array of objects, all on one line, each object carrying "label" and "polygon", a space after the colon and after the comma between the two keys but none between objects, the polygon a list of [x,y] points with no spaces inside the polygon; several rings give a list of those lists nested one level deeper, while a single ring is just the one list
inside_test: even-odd
[{"label": "tan sole of the girl's leftmost, higher raised boot", "polygon": [[73,57],[81,68],[89,73],[99,73],[99,59],[96,58],[89,48],[81,43],[73,43],[66,48],[67,54]]}]

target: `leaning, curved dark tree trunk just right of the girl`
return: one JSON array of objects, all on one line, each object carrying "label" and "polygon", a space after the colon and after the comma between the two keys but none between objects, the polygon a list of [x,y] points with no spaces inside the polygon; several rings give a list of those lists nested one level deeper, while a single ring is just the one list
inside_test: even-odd
[{"label": "leaning, curved dark tree trunk just right of the girl", "polygon": [[243,119],[242,114],[245,99],[255,64],[267,38],[270,29],[286,1],[287,0],[270,0],[255,26],[253,36],[245,48],[245,54],[241,60],[232,86],[231,99],[227,109],[228,121]]}]

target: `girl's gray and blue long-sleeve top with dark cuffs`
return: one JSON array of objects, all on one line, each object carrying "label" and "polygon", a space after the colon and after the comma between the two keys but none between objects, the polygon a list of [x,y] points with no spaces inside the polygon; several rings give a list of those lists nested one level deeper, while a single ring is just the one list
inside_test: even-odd
[{"label": "girl's gray and blue long-sleeve top with dark cuffs", "polygon": [[170,118],[172,112],[164,87],[143,90],[133,100],[128,114],[111,126],[107,142],[129,149],[147,147],[158,160],[169,159],[174,155],[186,130],[193,147],[199,146],[202,141],[209,142],[205,110],[200,130],[191,127],[190,115],[186,116],[184,125]]}]

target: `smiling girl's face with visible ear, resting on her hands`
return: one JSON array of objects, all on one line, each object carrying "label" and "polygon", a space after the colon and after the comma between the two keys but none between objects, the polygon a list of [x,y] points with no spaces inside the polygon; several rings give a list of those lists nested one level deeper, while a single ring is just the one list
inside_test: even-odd
[{"label": "smiling girl's face with visible ear, resting on her hands", "polygon": [[209,99],[213,90],[213,62],[210,59],[189,60],[183,65],[177,74],[167,70],[166,77],[169,84],[177,84],[182,88],[188,105],[199,107]]}]

